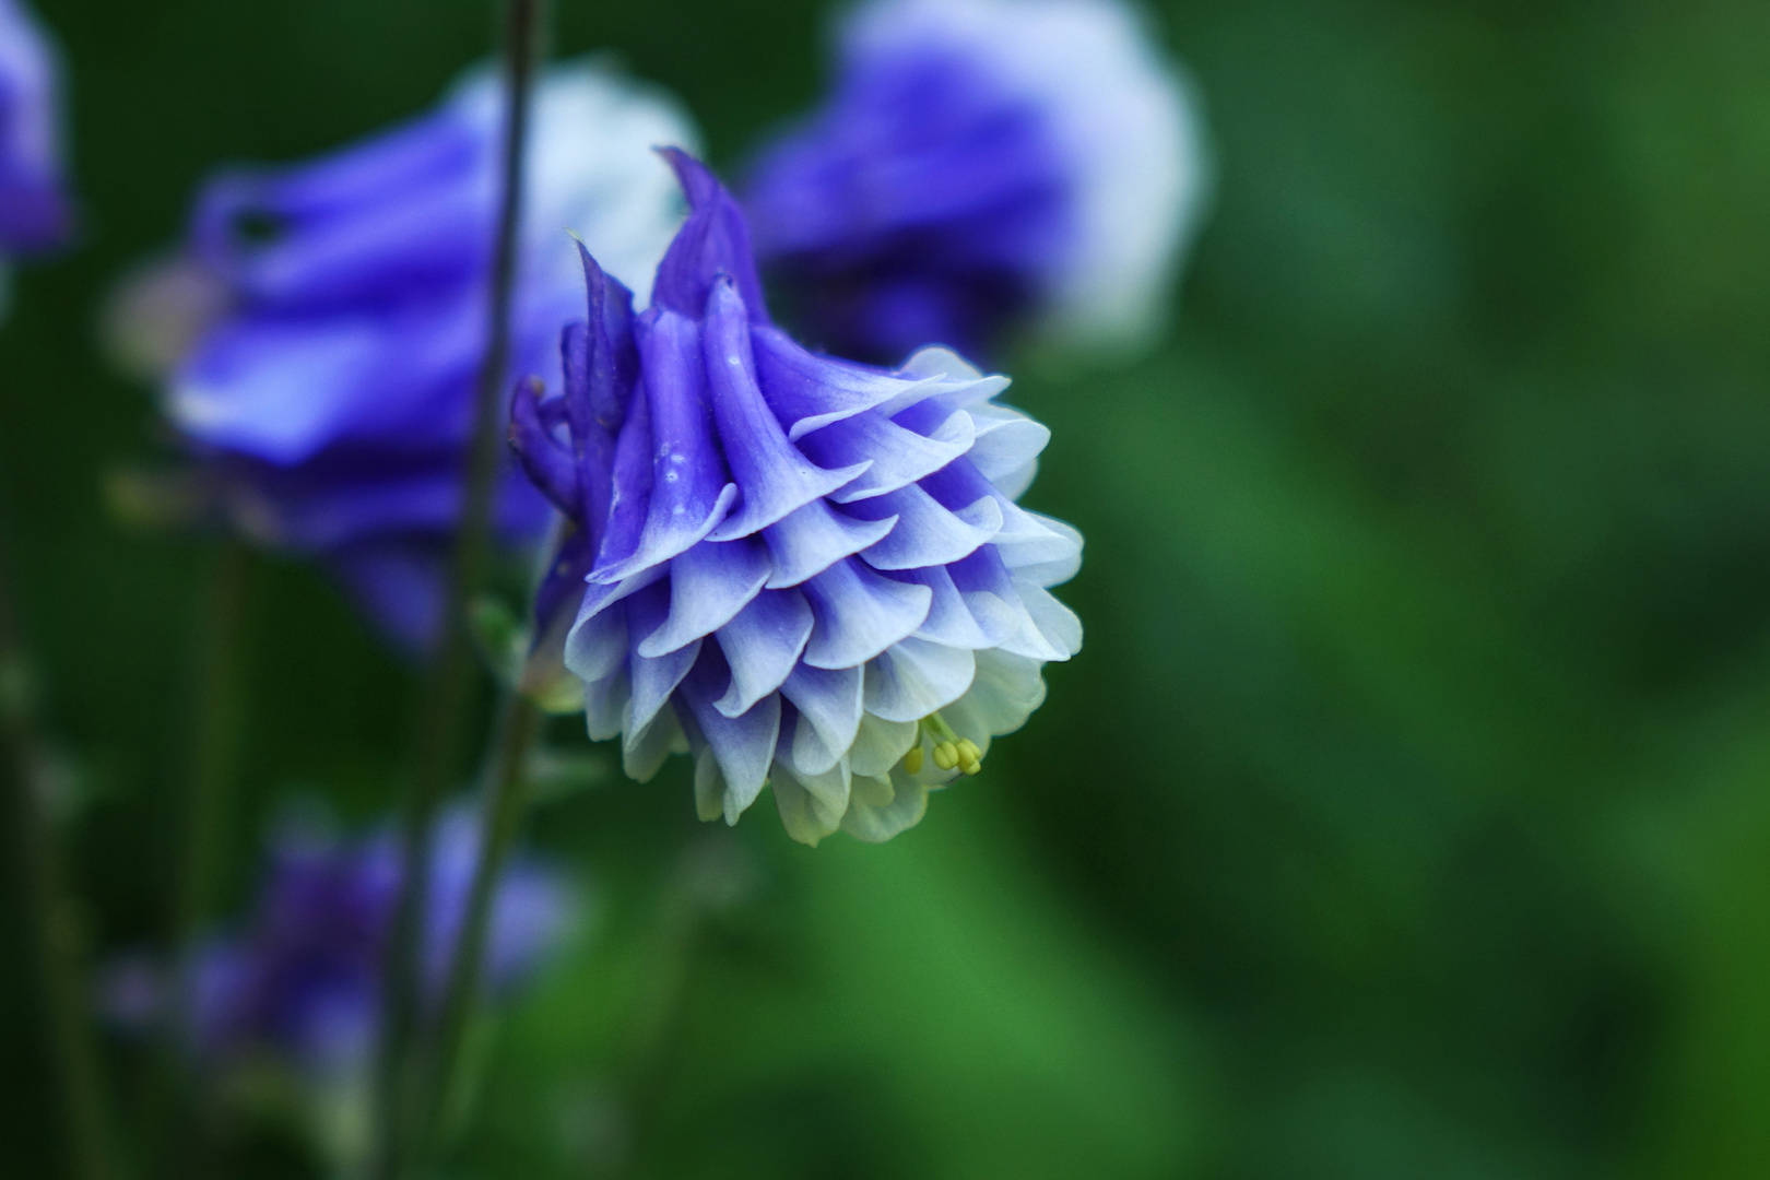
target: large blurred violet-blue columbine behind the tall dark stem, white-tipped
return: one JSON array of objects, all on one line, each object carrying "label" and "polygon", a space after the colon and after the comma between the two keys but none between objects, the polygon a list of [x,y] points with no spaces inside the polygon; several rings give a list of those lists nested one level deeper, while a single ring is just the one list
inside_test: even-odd
[{"label": "large blurred violet-blue columbine behind the tall dark stem, white-tipped", "polygon": [[[182,257],[127,285],[112,343],[165,368],[166,412],[209,460],[248,536],[324,556],[395,637],[434,633],[485,354],[501,90],[467,76],[439,110],[324,159],[228,172]],[[607,67],[550,69],[535,94],[512,372],[558,372],[577,313],[568,230],[644,285],[681,203],[658,142],[678,104]],[[506,540],[550,513],[513,476]]]}]

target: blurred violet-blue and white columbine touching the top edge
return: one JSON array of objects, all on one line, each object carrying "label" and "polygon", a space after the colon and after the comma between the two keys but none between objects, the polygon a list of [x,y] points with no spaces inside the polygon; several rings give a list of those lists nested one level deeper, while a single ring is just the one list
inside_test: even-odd
[{"label": "blurred violet-blue and white columbine touching the top edge", "polygon": [[835,94],[747,189],[758,251],[823,343],[975,356],[1043,318],[1078,343],[1159,320],[1207,163],[1177,69],[1117,0],[873,0]]}]

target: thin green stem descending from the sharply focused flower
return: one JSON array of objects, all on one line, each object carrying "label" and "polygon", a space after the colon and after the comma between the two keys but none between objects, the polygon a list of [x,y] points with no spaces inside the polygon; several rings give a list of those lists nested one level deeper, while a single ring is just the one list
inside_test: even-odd
[{"label": "thin green stem descending from the sharply focused flower", "polygon": [[473,870],[473,890],[467,895],[467,913],[462,916],[460,936],[455,939],[448,982],[442,991],[442,1008],[430,1053],[430,1093],[423,1113],[421,1152],[425,1162],[435,1159],[448,1130],[448,1116],[455,1106],[455,1074],[460,1070],[460,1047],[473,1019],[485,973],[485,948],[492,920],[492,899],[510,847],[515,844],[527,810],[527,761],[540,732],[542,711],[520,692],[504,697],[497,725],[497,745],[492,754],[490,782],[487,782],[485,819],[480,830],[480,854]]}]

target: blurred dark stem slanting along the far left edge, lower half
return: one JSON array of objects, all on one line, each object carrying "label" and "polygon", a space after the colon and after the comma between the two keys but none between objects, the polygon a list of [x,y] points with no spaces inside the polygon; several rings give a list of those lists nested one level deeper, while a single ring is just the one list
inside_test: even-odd
[{"label": "blurred dark stem slanting along the far left edge, lower half", "polygon": [[69,1164],[80,1180],[119,1180],[110,1106],[90,994],[81,962],[78,913],[62,879],[55,830],[46,810],[46,754],[37,725],[30,665],[7,598],[0,554],[0,778],[11,814],[14,858],[27,918],[35,939],[37,978],[46,1008],[48,1049],[55,1067]]}]

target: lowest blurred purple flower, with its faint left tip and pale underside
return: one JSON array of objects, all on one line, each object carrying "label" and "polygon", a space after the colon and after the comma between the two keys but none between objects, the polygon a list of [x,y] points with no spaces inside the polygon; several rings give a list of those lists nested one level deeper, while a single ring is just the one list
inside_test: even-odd
[{"label": "lowest blurred purple flower, with its faint left tip and pale underside", "polygon": [[[474,810],[453,807],[437,824],[425,904],[423,977],[432,1003],[460,936],[478,854]],[[393,831],[349,840],[289,823],[273,842],[248,920],[211,938],[182,973],[147,961],[117,966],[106,1008],[117,1023],[143,1030],[173,1019],[214,1079],[269,1070],[292,1081],[324,1139],[352,1153],[366,1134],[361,1120],[402,872]],[[581,897],[565,874],[535,858],[512,863],[492,900],[485,952],[494,996],[531,980],[581,918]]]}]

